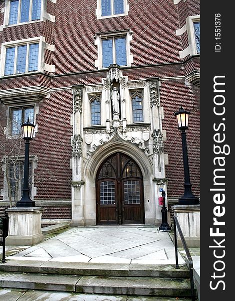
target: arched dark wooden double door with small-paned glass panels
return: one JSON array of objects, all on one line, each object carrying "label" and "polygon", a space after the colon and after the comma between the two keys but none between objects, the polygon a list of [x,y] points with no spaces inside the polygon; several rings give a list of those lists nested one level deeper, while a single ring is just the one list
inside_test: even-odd
[{"label": "arched dark wooden double door with small-paned glass panels", "polygon": [[127,155],[105,159],[96,175],[96,223],[144,224],[143,179]]}]

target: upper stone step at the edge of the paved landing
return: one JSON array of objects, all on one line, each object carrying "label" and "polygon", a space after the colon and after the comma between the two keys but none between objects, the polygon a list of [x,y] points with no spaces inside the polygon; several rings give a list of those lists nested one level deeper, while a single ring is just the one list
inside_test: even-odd
[{"label": "upper stone step at the edge of the paved landing", "polygon": [[0,264],[0,270],[64,275],[189,277],[186,264],[90,263],[34,260],[9,260]]}]

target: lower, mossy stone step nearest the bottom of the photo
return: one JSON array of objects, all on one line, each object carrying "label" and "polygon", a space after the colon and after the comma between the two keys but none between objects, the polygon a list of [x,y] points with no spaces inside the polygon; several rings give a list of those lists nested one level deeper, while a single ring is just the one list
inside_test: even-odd
[{"label": "lower, mossy stone step nearest the bottom of the photo", "polygon": [[190,296],[188,278],[81,276],[0,271],[0,287],[83,293]]}]

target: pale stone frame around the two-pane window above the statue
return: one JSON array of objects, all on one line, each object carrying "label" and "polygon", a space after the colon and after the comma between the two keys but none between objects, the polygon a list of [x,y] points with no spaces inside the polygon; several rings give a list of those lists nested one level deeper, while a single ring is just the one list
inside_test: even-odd
[{"label": "pale stone frame around the two-pane window above the statue", "polygon": [[126,39],[126,65],[125,67],[130,67],[133,63],[133,55],[130,54],[130,42],[132,41],[132,31],[124,30],[118,32],[109,33],[98,33],[94,36],[94,45],[97,45],[97,59],[95,60],[94,66],[99,69],[108,69],[108,67],[102,67],[102,40],[115,39],[115,38],[125,38]]}]

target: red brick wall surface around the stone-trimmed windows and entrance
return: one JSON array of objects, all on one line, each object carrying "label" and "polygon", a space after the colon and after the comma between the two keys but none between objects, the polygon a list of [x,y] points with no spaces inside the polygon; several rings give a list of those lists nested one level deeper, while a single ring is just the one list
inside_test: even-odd
[{"label": "red brick wall surface around the stone-trimmed windows and entrance", "polygon": [[[161,81],[160,103],[164,109],[162,127],[166,130],[167,137],[164,150],[169,158],[169,165],[166,165],[167,195],[178,197],[183,193],[181,137],[173,116],[173,111],[181,104],[191,109],[187,131],[189,171],[192,191],[199,195],[198,92],[190,86],[185,86],[183,78],[164,79],[183,77],[192,70],[199,69],[198,57],[185,63],[184,59],[179,58],[179,51],[188,45],[187,33],[182,36],[175,34],[175,30],[185,25],[186,17],[199,14],[199,1],[180,1],[178,5],[174,5],[173,1],[168,0],[128,0],[128,4],[127,16],[97,20],[96,0],[89,1],[88,6],[84,0],[60,0],[56,4],[47,1],[47,12],[55,16],[55,23],[46,21],[4,28],[0,32],[0,43],[36,36],[45,37],[47,43],[55,46],[55,51],[45,50],[44,62],[55,65],[55,73],[0,79],[0,90],[35,85],[66,88],[72,85],[100,83],[101,78],[106,77],[106,72],[97,71],[94,66],[97,59],[94,34],[130,29],[133,32],[130,53],[133,55],[132,66],[135,68],[124,68],[123,75],[128,76],[129,80],[159,77]],[[2,24],[3,14],[0,14],[0,25]],[[0,104],[0,122],[3,124],[4,109]],[[70,114],[72,95],[69,89],[51,91],[50,97],[39,103],[39,114],[36,116],[38,132],[30,142],[30,154],[38,156],[35,174],[47,171],[50,175],[44,174],[44,182],[35,184],[35,200],[71,199]],[[61,217],[63,212],[70,216],[70,207],[59,206],[59,212],[55,209],[52,210],[51,207],[49,210],[49,207],[46,207],[44,218],[52,218],[53,214],[54,218],[65,218]]]}]

